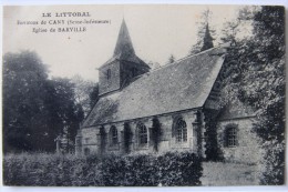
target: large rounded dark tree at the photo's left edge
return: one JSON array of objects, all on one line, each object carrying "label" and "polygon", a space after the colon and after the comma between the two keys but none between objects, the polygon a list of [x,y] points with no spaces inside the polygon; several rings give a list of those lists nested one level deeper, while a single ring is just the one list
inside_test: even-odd
[{"label": "large rounded dark tree at the photo's left edge", "polygon": [[[48,68],[34,52],[7,53],[3,57],[3,140],[4,152],[32,150],[47,127],[44,85]],[[39,130],[39,131],[35,131]]]}]

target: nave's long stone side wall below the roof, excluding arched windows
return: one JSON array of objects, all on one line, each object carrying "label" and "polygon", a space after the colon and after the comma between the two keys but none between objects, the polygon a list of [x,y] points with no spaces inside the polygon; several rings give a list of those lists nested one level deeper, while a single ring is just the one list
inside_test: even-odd
[{"label": "nave's long stone side wall below the roof, excluding arched windows", "polygon": [[[154,143],[152,141],[152,127],[153,127],[153,118],[143,118],[138,120],[127,121],[128,127],[131,129],[132,138],[130,142],[130,152],[131,153],[154,153]],[[160,134],[160,143],[158,143],[158,153],[164,153],[167,151],[193,151],[195,153],[198,152],[198,143],[199,138],[197,132],[199,131],[199,123],[195,123],[197,121],[197,115],[195,111],[187,111],[182,113],[173,113],[156,117],[161,123],[161,134]],[[173,133],[173,127],[175,121],[182,118],[186,122],[187,128],[187,141],[186,142],[176,142],[175,131]],[[105,146],[104,150],[106,153],[115,153],[123,154],[124,150],[124,123],[117,122],[112,124],[103,125],[105,132]],[[147,144],[140,144],[138,133],[137,133],[137,124],[143,123],[147,129]],[[112,144],[111,139],[111,127],[115,127],[117,130],[117,143]],[[100,137],[100,128],[84,128],[81,130],[81,144],[82,144],[82,154],[85,153],[85,149],[89,149],[89,153],[101,153],[101,137]],[[80,137],[80,133],[79,133]],[[202,148],[202,146],[199,146]]]}]

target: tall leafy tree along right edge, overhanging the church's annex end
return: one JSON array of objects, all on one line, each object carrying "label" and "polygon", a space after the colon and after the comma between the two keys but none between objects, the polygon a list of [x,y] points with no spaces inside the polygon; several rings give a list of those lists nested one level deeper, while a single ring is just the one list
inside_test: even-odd
[{"label": "tall leafy tree along right edge, overhanging the church's annex end", "polygon": [[[284,183],[285,151],[285,29],[281,7],[261,7],[251,18],[251,38],[228,51],[225,94],[256,110],[254,131],[265,153],[263,184]],[[238,70],[235,70],[238,69]]]}]

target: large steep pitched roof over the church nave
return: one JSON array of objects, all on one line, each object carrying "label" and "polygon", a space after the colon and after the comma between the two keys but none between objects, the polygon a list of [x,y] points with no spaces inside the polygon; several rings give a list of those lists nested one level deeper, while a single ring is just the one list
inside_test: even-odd
[{"label": "large steep pitched roof over the church nave", "polygon": [[225,52],[213,48],[137,77],[122,91],[102,97],[82,127],[203,107]]}]

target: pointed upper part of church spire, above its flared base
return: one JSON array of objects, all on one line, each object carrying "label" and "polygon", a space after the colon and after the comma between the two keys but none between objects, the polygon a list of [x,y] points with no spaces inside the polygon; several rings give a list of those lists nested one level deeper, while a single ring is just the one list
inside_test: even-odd
[{"label": "pointed upper part of church spire, above its flared base", "polygon": [[128,29],[126,27],[124,19],[123,19],[121,28],[120,28],[119,39],[117,39],[113,55],[115,57],[119,54],[121,57],[128,57],[131,54],[135,54],[130,34],[128,34]]}]

